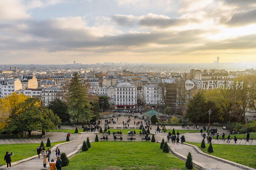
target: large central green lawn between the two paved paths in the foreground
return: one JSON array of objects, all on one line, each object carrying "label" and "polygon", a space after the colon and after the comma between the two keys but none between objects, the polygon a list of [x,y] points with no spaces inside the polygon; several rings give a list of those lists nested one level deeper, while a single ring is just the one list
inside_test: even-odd
[{"label": "large central green lawn between the two paved paths in the foreground", "polygon": [[102,141],[91,145],[62,169],[186,169],[184,161],[164,153],[158,143]]}]

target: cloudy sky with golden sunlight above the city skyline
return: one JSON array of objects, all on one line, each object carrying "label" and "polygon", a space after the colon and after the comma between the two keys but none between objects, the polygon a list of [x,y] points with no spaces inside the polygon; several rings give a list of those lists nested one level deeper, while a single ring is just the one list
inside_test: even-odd
[{"label": "cloudy sky with golden sunlight above the city skyline", "polygon": [[0,63],[256,61],[256,0],[0,0]]}]

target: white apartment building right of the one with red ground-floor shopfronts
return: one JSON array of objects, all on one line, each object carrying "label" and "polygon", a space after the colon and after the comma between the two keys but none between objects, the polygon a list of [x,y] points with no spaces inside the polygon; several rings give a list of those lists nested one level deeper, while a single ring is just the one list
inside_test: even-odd
[{"label": "white apartment building right of the one with red ground-floor shopfronts", "polygon": [[141,89],[141,100],[146,105],[158,106],[163,105],[163,100],[161,93],[159,91],[159,86],[156,84],[144,85]]}]

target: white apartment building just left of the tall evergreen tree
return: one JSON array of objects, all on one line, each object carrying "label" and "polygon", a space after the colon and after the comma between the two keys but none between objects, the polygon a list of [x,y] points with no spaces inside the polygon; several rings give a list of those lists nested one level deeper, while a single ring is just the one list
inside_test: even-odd
[{"label": "white apartment building just left of the tall evergreen tree", "polygon": [[45,106],[47,106],[52,100],[59,98],[61,100],[61,94],[64,93],[64,89],[52,86],[42,88],[42,101]]}]

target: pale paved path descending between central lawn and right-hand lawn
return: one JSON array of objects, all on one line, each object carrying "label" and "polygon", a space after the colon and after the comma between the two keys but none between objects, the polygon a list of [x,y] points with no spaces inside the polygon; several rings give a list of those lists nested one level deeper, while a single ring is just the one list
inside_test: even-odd
[{"label": "pale paved path descending between central lawn and right-hand lawn", "polygon": [[212,168],[212,170],[238,170],[241,169],[239,167],[221,162],[219,160],[204,156],[196,151],[195,148],[188,145],[176,145],[172,143],[168,143],[171,149],[174,149],[176,152],[187,157],[188,152],[191,152],[193,156],[193,160],[203,164],[207,168]]}]

